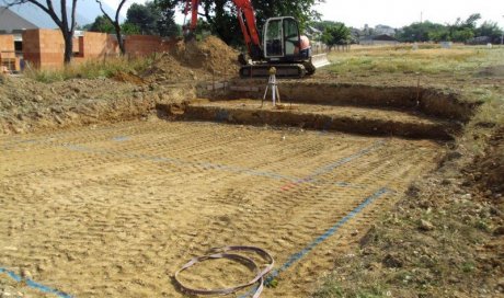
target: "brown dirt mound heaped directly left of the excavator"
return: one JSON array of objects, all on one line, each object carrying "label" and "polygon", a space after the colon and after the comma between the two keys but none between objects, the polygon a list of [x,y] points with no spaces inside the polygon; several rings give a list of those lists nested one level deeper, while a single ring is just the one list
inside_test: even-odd
[{"label": "brown dirt mound heaped directly left of the excavator", "polygon": [[180,81],[234,77],[238,51],[215,36],[201,42],[179,42],[144,73],[147,80]]}]

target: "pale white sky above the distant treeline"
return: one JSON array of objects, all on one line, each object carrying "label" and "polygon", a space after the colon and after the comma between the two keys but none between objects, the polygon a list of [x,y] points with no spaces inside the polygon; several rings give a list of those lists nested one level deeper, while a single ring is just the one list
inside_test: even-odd
[{"label": "pale white sky above the distant treeline", "polygon": [[[118,0],[105,2],[115,9]],[[134,2],[142,3],[145,0],[129,0],[127,3]],[[325,0],[314,9],[322,13],[322,20],[339,21],[353,27],[364,27],[365,24],[402,27],[420,22],[421,18],[445,24],[454,23],[457,18],[466,20],[472,13],[481,13],[482,21],[497,22],[504,27],[504,0]],[[123,9],[124,14],[126,11],[127,8]],[[176,22],[182,23],[183,20],[183,15],[177,13]]]}]

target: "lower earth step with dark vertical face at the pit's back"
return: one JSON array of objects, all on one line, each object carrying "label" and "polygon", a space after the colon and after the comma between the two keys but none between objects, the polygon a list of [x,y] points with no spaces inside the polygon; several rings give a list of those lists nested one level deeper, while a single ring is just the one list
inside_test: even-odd
[{"label": "lower earth step with dark vertical face at the pit's back", "polygon": [[305,129],[406,138],[451,139],[461,128],[454,123],[414,112],[332,106],[306,103],[262,104],[257,100],[192,101],[184,105],[159,105],[176,119],[245,125],[291,126]]}]

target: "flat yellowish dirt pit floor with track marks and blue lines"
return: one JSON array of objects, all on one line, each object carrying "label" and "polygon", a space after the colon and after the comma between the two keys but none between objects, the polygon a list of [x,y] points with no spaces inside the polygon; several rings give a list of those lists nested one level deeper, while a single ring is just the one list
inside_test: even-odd
[{"label": "flat yellowish dirt pit floor with track marks and blue lines", "polygon": [[[1,263],[76,297],[177,297],[171,274],[213,247],[261,247],[282,266],[374,198],[264,294],[307,296],[443,151],[426,140],[163,121],[1,144]],[[183,277],[198,287],[252,277],[204,268]]]}]

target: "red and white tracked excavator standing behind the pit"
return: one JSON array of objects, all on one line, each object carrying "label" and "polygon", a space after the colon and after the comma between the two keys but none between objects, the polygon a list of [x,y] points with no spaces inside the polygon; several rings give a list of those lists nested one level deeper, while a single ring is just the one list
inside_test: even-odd
[{"label": "red and white tracked excavator standing behind the pit", "polygon": [[[251,0],[232,2],[248,49],[248,55],[241,54],[238,58],[241,78],[268,77],[272,67],[276,69],[276,77],[302,78],[329,65],[327,54],[312,55],[308,37],[299,34],[298,22],[293,16],[267,19],[261,41]],[[191,23],[184,27],[186,36],[194,35],[196,30],[198,4],[199,0],[186,0],[184,13],[191,12]]]}]

